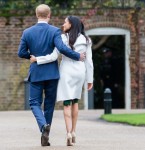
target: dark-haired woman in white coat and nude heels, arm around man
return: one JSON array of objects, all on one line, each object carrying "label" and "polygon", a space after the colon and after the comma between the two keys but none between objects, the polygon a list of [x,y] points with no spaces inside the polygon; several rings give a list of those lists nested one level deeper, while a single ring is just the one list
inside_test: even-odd
[{"label": "dark-haired woman in white coat and nude heels, arm around man", "polygon": [[[60,63],[60,79],[57,88],[57,101],[63,101],[64,119],[67,130],[67,146],[76,142],[76,123],[78,118],[78,100],[81,99],[82,87],[87,80],[88,90],[93,87],[92,43],[85,35],[84,25],[76,16],[68,16],[63,24],[63,42],[74,51],[86,52],[84,61],[75,61],[64,55]],[[31,62],[45,64],[55,61],[57,49],[46,56],[31,56]],[[51,71],[51,70],[50,70]]]}]

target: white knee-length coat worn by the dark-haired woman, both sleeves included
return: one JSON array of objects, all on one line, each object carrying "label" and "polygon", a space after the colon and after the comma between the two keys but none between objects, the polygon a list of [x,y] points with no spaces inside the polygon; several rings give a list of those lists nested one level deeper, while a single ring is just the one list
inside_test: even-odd
[{"label": "white knee-length coat worn by the dark-haired woman, both sleeves included", "polygon": [[[68,36],[62,35],[64,44],[68,47]],[[93,62],[92,62],[92,43],[91,40],[86,41],[86,38],[80,34],[74,44],[74,50],[78,53],[86,52],[84,62],[72,60],[62,55],[60,63],[60,79],[57,88],[57,101],[80,99],[82,87],[85,82],[93,83]],[[55,61],[59,52],[57,49],[52,54],[36,57],[37,64],[44,64]]]}]

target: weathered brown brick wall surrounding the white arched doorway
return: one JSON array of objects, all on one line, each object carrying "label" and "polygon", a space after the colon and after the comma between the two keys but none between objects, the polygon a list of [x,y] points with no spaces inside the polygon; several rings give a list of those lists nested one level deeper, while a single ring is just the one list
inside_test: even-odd
[{"label": "weathered brown brick wall surrounding the white arched doorway", "polygon": [[[88,9],[79,16],[86,30],[99,27],[118,27],[131,32],[131,99],[132,108],[144,107],[145,81],[145,10]],[[68,13],[73,14],[73,13]],[[53,16],[51,24],[60,27],[66,15]],[[0,17],[0,110],[24,109],[24,78],[29,61],[17,57],[22,31],[36,23],[36,17]],[[80,102],[83,108],[83,101]],[[58,104],[56,109],[61,109]]]}]

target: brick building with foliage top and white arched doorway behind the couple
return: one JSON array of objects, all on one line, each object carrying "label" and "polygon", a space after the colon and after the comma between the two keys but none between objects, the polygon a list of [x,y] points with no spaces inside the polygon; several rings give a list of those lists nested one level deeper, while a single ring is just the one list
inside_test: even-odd
[{"label": "brick building with foliage top and white arched doorway behind the couple", "polygon": [[[40,3],[52,6],[50,24],[57,27],[61,27],[67,15],[80,16],[92,39],[94,88],[88,93],[84,87],[80,108],[103,108],[105,70],[101,72],[100,68],[105,68],[104,48],[111,50],[113,58],[113,64],[107,64],[113,68],[112,75],[106,75],[112,92],[117,93],[113,95],[113,108],[144,108],[143,0],[0,0],[0,110],[25,109],[24,79],[30,63],[18,58],[17,50],[23,30],[37,21],[35,6]],[[61,108],[61,104],[56,105],[56,109]]]}]

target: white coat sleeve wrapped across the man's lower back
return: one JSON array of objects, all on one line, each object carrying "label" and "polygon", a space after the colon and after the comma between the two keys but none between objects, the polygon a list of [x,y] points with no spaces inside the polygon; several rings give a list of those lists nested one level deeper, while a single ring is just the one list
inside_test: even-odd
[{"label": "white coat sleeve wrapped across the man's lower back", "polygon": [[46,56],[36,57],[37,64],[41,65],[41,64],[46,64],[46,63],[53,62],[53,61],[55,61],[58,58],[58,56],[59,56],[59,52],[55,48],[51,54],[48,54]]}]

